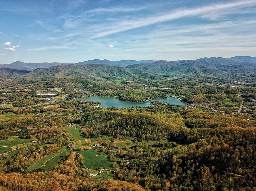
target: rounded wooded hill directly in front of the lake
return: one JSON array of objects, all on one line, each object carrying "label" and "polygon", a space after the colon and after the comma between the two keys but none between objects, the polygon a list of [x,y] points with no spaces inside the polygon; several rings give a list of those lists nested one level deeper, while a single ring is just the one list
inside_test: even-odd
[{"label": "rounded wooded hill directly in front of the lake", "polygon": [[96,110],[81,116],[80,123],[88,128],[86,137],[99,135],[131,136],[140,141],[168,138],[175,127],[164,118],[146,113],[124,113],[122,111]]}]

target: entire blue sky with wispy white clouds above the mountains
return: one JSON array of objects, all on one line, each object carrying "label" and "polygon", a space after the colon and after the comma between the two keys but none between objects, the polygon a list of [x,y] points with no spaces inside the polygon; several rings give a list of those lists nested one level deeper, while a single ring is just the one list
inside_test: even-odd
[{"label": "entire blue sky with wispy white clouds above the mountains", "polygon": [[0,64],[256,56],[256,0],[1,1]]}]

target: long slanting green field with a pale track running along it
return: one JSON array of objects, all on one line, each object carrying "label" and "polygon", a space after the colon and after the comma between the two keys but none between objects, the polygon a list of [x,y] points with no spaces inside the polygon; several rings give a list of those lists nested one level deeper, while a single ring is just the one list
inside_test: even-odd
[{"label": "long slanting green field with a pale track running along it", "polygon": [[39,168],[42,168],[44,170],[50,170],[58,164],[61,158],[66,156],[66,153],[69,153],[69,149],[67,149],[67,147],[63,147],[58,153],[53,153],[51,155],[45,156],[38,162],[35,162],[28,167],[28,170],[36,170]]}]

